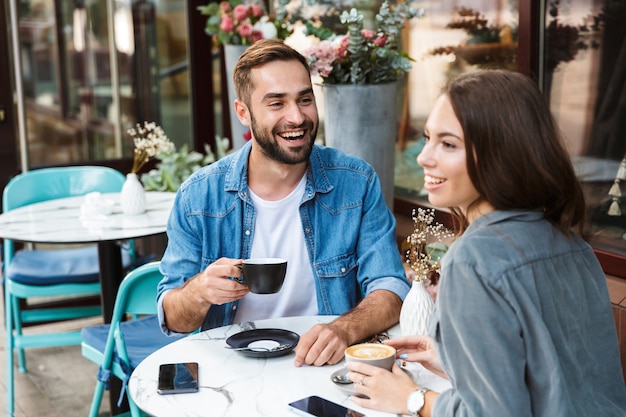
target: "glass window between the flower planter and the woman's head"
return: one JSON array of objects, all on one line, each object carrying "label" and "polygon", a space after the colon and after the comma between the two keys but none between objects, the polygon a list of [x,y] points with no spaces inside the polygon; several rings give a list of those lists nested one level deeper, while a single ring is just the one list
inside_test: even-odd
[{"label": "glass window between the flower planter and the woman's head", "polygon": [[[418,4],[420,4],[418,2]],[[426,118],[448,78],[477,68],[517,68],[517,1],[424,3],[411,23],[408,52],[415,59],[408,82],[395,165],[396,196],[426,201],[416,158]],[[403,127],[403,128],[402,128]],[[407,213],[408,215],[408,213]]]}]

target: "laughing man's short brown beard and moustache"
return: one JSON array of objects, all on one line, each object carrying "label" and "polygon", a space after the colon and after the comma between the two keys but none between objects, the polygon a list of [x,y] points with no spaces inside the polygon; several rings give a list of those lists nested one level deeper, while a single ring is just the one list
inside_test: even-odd
[{"label": "laughing man's short brown beard and moustache", "polygon": [[296,165],[301,162],[308,161],[309,156],[311,155],[311,150],[313,149],[313,144],[315,143],[315,137],[317,136],[317,128],[313,130],[313,122],[307,119],[302,123],[302,125],[297,126],[298,128],[306,128],[307,131],[310,132],[309,142],[298,148],[289,148],[286,151],[280,146],[280,143],[274,139],[276,136],[276,132],[274,130],[276,128],[272,129],[271,132],[268,132],[267,129],[259,127],[253,115],[250,115],[250,120],[252,122],[250,127],[252,134],[263,150],[263,153],[265,153],[265,155],[269,158],[276,162],[288,165]]}]

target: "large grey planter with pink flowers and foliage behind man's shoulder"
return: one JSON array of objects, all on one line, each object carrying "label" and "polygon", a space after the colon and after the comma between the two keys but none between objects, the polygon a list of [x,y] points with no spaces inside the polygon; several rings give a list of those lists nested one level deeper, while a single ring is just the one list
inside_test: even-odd
[{"label": "large grey planter with pink flowers and foliage behind man's shoulder", "polygon": [[339,16],[339,32],[306,23],[306,34],[319,39],[302,51],[312,74],[319,76],[324,102],[327,146],[360,156],[380,177],[385,201],[393,205],[395,146],[398,132],[399,81],[411,70],[411,58],[401,49],[406,23],[423,16],[414,1],[385,1],[375,15],[375,27],[355,8]]}]

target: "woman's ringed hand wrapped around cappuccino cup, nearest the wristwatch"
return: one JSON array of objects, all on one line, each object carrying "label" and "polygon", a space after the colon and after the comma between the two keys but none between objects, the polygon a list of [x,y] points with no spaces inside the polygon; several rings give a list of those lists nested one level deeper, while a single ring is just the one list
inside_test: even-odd
[{"label": "woman's ringed hand wrapped around cappuccino cup, nearest the wristwatch", "polygon": [[406,400],[418,385],[397,364],[393,364],[391,372],[360,362],[348,362],[347,367],[355,391],[369,397],[353,395],[352,402],[392,414],[407,414]]}]

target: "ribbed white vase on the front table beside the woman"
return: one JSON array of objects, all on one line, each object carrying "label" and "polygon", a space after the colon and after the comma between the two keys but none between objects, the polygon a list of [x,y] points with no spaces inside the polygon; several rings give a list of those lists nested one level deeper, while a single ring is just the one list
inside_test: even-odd
[{"label": "ribbed white vase on the front table beside the woman", "polygon": [[426,334],[428,320],[434,307],[435,303],[428,291],[426,291],[424,282],[414,280],[400,311],[400,331],[402,335]]}]

